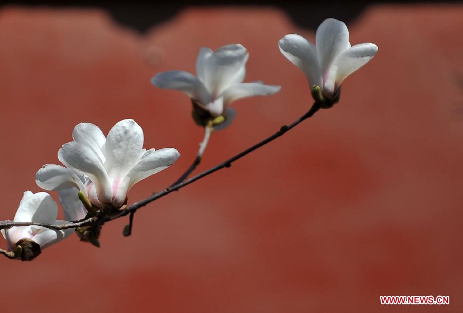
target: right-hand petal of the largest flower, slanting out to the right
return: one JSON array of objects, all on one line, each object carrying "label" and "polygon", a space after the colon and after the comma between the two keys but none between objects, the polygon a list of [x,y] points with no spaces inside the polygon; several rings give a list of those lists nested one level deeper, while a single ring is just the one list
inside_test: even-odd
[{"label": "right-hand petal of the largest flower, slanting out to the right", "polygon": [[113,200],[114,206],[121,206],[126,200],[127,193],[133,185],[145,178],[162,171],[171,166],[177,159],[180,153],[174,148],[164,148],[159,150],[150,149],[146,151],[143,158],[135,165],[135,167],[127,174],[126,178],[121,182],[116,197]]}]

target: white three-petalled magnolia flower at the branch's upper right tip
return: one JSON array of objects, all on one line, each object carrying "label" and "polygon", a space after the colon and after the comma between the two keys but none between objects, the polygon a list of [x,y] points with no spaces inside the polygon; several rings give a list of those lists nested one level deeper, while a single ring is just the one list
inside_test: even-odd
[{"label": "white three-petalled magnolia flower at the branch's upper right tip", "polygon": [[328,99],[336,97],[347,76],[365,65],[378,51],[375,44],[350,46],[346,24],[327,18],[315,35],[316,47],[304,37],[289,34],[279,41],[280,51],[307,77],[309,85],[319,86]]}]

